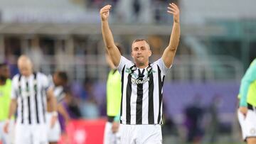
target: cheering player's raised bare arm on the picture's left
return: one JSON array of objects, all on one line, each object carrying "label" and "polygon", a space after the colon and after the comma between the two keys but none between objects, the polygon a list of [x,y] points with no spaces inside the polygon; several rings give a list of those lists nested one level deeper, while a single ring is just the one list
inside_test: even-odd
[{"label": "cheering player's raised bare arm on the picture's left", "polygon": [[104,6],[102,9],[100,9],[100,17],[101,17],[101,23],[102,23],[102,36],[103,36],[105,46],[107,48],[107,52],[109,53],[110,58],[114,63],[114,66],[117,67],[121,58],[121,54],[117,46],[114,45],[114,38],[113,38],[112,32],[110,31],[110,26],[107,21],[108,17],[110,16],[110,9],[111,9],[110,5]]}]

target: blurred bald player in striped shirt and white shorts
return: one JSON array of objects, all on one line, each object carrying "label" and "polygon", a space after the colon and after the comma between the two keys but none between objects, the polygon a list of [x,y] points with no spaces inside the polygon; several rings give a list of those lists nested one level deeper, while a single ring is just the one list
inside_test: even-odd
[{"label": "blurred bald player in striped shirt and white shorts", "polygon": [[[57,113],[57,103],[48,78],[41,72],[33,72],[31,60],[25,55],[18,58],[18,70],[12,81],[11,105],[4,131],[8,133],[9,121],[16,112],[15,144],[46,144],[46,99]],[[47,96],[47,97],[46,97]],[[57,121],[57,114],[51,118],[51,127]]]}]

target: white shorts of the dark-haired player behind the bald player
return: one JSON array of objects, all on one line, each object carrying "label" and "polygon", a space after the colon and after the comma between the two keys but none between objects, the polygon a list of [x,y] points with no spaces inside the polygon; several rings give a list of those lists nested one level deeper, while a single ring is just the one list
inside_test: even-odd
[{"label": "white shorts of the dark-haired player behind the bald player", "polygon": [[52,113],[46,113],[46,123],[47,123],[47,138],[48,142],[58,142],[60,140],[61,130],[60,122],[57,120],[53,128],[50,128],[50,120],[52,118]]}]

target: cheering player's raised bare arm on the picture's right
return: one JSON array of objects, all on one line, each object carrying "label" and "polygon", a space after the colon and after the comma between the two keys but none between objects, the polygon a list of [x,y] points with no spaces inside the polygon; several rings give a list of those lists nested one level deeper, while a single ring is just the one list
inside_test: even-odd
[{"label": "cheering player's raised bare arm on the picture's right", "polygon": [[179,38],[181,35],[181,28],[180,28],[180,23],[179,23],[178,6],[176,6],[176,4],[174,4],[174,3],[169,4],[167,12],[174,15],[174,24],[173,24],[173,28],[171,31],[171,38],[169,41],[169,45],[164,50],[162,59],[164,60],[164,64],[166,65],[166,67],[171,67],[171,65],[174,61],[174,56],[175,56],[176,50],[178,48],[178,42],[179,42]]}]

